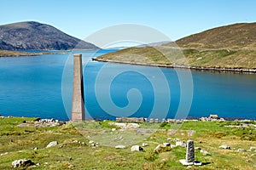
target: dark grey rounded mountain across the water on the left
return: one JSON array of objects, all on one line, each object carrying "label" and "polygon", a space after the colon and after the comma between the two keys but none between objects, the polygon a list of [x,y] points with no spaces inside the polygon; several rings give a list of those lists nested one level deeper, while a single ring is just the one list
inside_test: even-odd
[{"label": "dark grey rounded mountain across the water on the left", "polygon": [[95,49],[90,42],[84,42],[56,29],[53,26],[34,21],[18,22],[0,26],[0,49]]}]

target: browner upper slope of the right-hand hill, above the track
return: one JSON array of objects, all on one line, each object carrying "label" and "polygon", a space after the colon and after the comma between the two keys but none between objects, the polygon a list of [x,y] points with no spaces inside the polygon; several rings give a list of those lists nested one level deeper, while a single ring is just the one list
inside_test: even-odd
[{"label": "browner upper slope of the right-hand hill, above the track", "polygon": [[183,48],[256,49],[256,22],[220,26],[177,40]]}]

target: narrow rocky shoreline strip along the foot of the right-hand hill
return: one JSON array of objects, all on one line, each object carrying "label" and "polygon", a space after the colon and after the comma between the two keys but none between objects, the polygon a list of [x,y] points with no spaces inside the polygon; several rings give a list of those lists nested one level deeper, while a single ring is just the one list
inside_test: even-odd
[{"label": "narrow rocky shoreline strip along the foot of the right-hand hill", "polygon": [[105,62],[105,63],[114,63],[122,65],[140,65],[140,66],[152,66],[152,67],[161,67],[161,68],[172,68],[172,69],[186,69],[193,71],[212,71],[212,72],[234,72],[234,73],[247,73],[255,74],[256,69],[238,69],[238,68],[216,68],[216,67],[198,67],[198,66],[185,66],[185,65],[160,65],[160,64],[148,64],[148,63],[137,63],[131,61],[119,61],[112,59],[97,59],[92,58],[93,61]]}]

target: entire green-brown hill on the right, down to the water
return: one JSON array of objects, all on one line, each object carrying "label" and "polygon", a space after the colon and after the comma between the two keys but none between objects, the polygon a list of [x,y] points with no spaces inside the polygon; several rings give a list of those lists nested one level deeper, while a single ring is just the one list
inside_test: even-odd
[{"label": "entire green-brown hill on the right, down to the water", "polygon": [[154,47],[126,48],[96,60],[128,64],[255,70],[256,23],[221,26]]}]

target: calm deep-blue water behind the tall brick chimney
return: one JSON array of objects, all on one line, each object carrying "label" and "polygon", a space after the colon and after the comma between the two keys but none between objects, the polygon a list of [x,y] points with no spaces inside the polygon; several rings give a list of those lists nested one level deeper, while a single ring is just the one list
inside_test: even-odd
[{"label": "calm deep-blue water behind the tall brick chimney", "polygon": [[[188,76],[188,71],[106,64],[90,59],[112,51],[75,52],[82,53],[84,59],[87,117],[173,118],[214,113],[256,119],[255,74],[191,71],[190,84],[181,77]],[[0,58],[0,114],[69,119],[72,71],[72,54]],[[113,72],[118,74],[113,76]],[[183,105],[178,109],[182,103],[189,107],[189,112]]]}]

